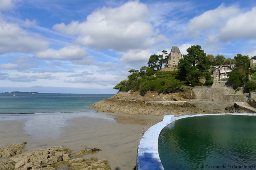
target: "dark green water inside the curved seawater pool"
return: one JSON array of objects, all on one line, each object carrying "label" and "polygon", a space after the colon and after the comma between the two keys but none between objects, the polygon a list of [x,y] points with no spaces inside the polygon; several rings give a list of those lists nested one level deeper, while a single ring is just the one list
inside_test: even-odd
[{"label": "dark green water inside the curved seawater pool", "polygon": [[180,119],[162,129],[158,152],[165,170],[256,169],[255,132],[256,116]]}]

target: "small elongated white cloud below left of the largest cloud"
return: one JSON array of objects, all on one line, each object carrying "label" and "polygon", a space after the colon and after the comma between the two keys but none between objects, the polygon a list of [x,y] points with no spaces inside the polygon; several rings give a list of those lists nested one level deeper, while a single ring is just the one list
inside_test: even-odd
[{"label": "small elongated white cloud below left of the largest cloud", "polygon": [[69,45],[60,50],[52,48],[39,52],[35,55],[38,59],[81,59],[86,55],[86,50],[76,45]]}]

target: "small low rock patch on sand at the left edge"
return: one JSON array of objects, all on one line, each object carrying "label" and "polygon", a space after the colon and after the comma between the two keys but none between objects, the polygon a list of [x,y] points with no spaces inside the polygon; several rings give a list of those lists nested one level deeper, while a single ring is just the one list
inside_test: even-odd
[{"label": "small low rock patch on sand at the left edge", "polygon": [[23,153],[26,150],[25,144],[27,144],[27,142],[23,142],[21,144],[9,144],[5,148],[0,148],[0,157],[7,158]]}]

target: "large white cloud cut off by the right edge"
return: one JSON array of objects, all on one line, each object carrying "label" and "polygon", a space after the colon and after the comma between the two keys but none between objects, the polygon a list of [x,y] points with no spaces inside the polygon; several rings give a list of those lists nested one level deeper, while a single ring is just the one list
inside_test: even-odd
[{"label": "large white cloud cut off by the right edge", "polygon": [[240,13],[226,22],[220,31],[221,41],[256,38],[256,7]]}]

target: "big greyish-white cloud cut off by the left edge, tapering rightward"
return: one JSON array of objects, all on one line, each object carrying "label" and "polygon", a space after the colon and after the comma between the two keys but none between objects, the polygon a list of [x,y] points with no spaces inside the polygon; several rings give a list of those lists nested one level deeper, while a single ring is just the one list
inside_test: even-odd
[{"label": "big greyish-white cloud cut off by the left edge, tapering rightward", "polygon": [[18,24],[1,20],[0,37],[0,54],[6,52],[37,52],[48,46],[48,42],[37,34],[25,31]]}]

